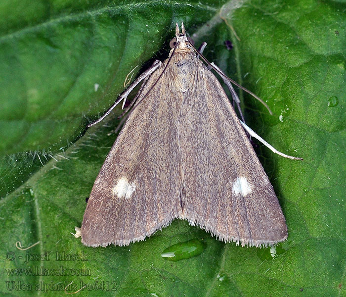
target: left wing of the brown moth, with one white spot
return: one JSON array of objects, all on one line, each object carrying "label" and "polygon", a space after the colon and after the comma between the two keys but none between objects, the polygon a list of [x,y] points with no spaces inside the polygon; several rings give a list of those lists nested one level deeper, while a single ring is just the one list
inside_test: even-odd
[{"label": "left wing of the brown moth, with one white spot", "polygon": [[[138,101],[163,67],[151,75]],[[81,228],[85,245],[129,245],[178,216],[181,177],[174,160],[180,159],[176,119],[182,95],[168,87],[161,92],[154,87],[136,106],[110,150],[87,202]]]}]

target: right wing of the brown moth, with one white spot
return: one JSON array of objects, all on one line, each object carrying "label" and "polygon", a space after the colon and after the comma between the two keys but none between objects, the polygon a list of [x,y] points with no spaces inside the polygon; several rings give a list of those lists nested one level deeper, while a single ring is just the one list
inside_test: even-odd
[{"label": "right wing of the brown moth, with one white spot", "polygon": [[279,201],[216,77],[201,63],[181,109],[181,218],[242,246],[287,238]]}]

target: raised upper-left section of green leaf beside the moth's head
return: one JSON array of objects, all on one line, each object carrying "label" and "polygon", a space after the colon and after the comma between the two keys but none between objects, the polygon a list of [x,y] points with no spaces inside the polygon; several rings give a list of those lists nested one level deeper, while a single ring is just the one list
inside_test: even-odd
[{"label": "raised upper-left section of green leaf beside the moth's head", "polygon": [[[198,26],[218,7],[56,2],[50,18],[43,16],[48,6],[27,1],[24,16],[10,2],[3,4],[0,28],[7,34],[0,38],[0,135],[6,138],[1,154],[68,147],[84,131],[86,117],[97,117],[114,102],[133,65],[150,59],[173,35],[174,20],[188,24],[193,16]],[[19,19],[11,27],[14,15]]]}]

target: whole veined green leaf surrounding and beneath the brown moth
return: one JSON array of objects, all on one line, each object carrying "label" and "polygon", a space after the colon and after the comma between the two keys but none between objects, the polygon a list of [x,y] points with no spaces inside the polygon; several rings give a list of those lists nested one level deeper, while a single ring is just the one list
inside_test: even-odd
[{"label": "whole veined green leaf surrounding and beneath the brown moth", "polygon": [[[346,296],[345,3],[49,3],[0,4],[1,296],[64,295],[72,281],[67,292],[84,288],[78,296]],[[256,143],[289,230],[275,248],[224,244],[182,220],[129,247],[85,247],[70,234],[120,110],[83,134],[85,125],[114,102],[131,69],[168,56],[176,21],[273,111],[239,92],[248,125],[304,158]],[[194,238],[206,244],[200,255],[161,257]],[[17,241],[40,243],[19,250]],[[82,258],[57,261],[57,253]],[[44,274],[8,270],[18,268]]]}]

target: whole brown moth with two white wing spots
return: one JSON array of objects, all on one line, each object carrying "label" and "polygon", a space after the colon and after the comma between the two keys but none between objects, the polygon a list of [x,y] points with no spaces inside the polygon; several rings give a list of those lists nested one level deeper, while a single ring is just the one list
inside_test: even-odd
[{"label": "whole brown moth with two white wing spots", "polygon": [[241,246],[287,238],[243,123],[181,29],[176,24],[170,58],[135,82],[145,81],[87,202],[81,227],[87,246],[126,246],[175,218]]}]

